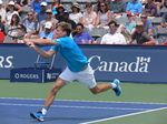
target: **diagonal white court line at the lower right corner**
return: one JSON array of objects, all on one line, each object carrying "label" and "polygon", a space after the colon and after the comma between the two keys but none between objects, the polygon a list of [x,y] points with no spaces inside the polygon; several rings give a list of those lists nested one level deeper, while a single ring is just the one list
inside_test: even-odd
[{"label": "diagonal white court line at the lower right corner", "polygon": [[165,108],[167,108],[167,106],[166,107],[160,107],[160,108],[155,108],[155,110],[148,110],[148,111],[144,111],[144,112],[137,112],[137,113],[131,113],[131,114],[115,116],[115,117],[108,117],[108,118],[97,120],[97,121],[84,122],[84,123],[80,123],[80,124],[91,124],[91,123],[96,123],[96,122],[104,122],[104,121],[109,121],[109,120],[114,120],[114,118],[120,118],[120,117],[126,117],[126,116],[131,116],[131,115],[137,115],[137,114],[144,114],[144,113],[159,111],[159,110],[165,110]]}]

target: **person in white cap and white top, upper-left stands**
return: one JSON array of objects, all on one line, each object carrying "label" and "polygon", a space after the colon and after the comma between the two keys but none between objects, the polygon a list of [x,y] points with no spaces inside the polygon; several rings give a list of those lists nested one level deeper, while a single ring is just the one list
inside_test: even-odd
[{"label": "person in white cap and white top, upper-left stands", "polygon": [[9,9],[9,11],[7,12],[7,17],[6,17],[6,19],[7,19],[6,25],[7,25],[7,27],[10,25],[11,18],[12,18],[12,16],[13,16],[14,13],[19,16],[18,11],[14,10],[14,2],[13,2],[13,1],[10,1],[10,2],[8,3],[8,9]]}]

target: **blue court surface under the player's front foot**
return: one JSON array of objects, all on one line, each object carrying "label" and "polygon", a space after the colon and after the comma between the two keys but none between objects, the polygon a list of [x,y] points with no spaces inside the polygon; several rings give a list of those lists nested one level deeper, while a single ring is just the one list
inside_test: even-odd
[{"label": "blue court surface under the player's front foot", "polygon": [[[0,99],[1,124],[40,123],[29,116],[45,100]],[[42,124],[89,124],[167,108],[167,104],[90,101],[55,101]]]}]

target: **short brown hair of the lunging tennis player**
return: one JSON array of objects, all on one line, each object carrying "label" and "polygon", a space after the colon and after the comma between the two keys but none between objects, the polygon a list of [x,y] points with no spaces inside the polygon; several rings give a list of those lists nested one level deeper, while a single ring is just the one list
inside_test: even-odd
[{"label": "short brown hair of the lunging tennis player", "polygon": [[58,27],[60,27],[62,31],[66,31],[68,37],[70,35],[71,24],[66,23],[66,22],[60,22],[60,23],[58,23]]}]

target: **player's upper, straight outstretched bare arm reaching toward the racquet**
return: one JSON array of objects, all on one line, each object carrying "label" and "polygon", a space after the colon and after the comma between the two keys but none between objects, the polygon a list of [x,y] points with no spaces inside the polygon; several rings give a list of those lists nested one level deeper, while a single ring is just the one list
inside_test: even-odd
[{"label": "player's upper, straight outstretched bare arm reaching toward the racquet", "polygon": [[59,45],[56,41],[48,40],[48,39],[23,39],[23,41],[26,43],[33,42],[35,44],[41,44],[41,45]]}]

